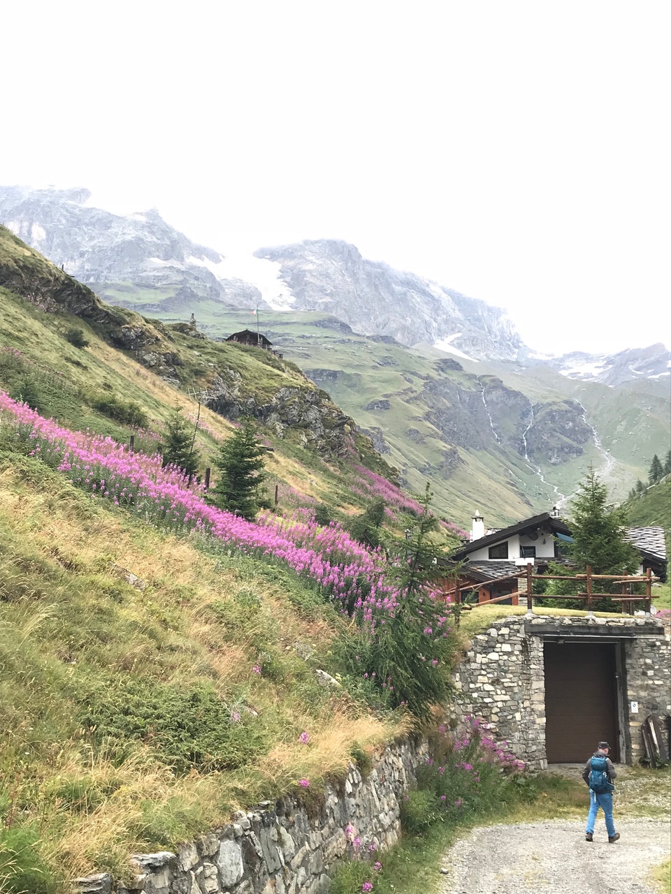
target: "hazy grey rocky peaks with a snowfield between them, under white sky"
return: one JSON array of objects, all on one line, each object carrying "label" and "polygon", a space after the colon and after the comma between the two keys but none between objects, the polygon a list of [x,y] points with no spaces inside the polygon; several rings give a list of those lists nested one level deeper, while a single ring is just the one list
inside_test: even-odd
[{"label": "hazy grey rocky peaks with a snowfield between them, under white sky", "polygon": [[104,298],[143,313],[191,313],[208,299],[326,311],[359,333],[475,359],[510,360],[520,350],[499,308],[369,261],[347,242],[309,240],[225,258],[188,240],[156,209],[113,215],[89,199],[88,190],[0,187],[0,222]]}]

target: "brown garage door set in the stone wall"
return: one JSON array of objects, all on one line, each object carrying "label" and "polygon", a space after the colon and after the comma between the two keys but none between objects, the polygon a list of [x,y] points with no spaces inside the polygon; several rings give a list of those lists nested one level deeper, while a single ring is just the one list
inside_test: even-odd
[{"label": "brown garage door set in the stone wall", "polygon": [[617,737],[616,656],[612,643],[545,643],[546,749],[549,763],[586,761]]}]

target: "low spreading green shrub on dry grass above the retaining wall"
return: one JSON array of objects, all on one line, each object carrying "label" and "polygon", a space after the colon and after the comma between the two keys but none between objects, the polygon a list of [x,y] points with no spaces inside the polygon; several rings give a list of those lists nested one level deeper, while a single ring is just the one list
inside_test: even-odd
[{"label": "low spreading green shrub on dry grass above the retaining wall", "polygon": [[236,717],[212,687],[133,679],[89,696],[81,721],[116,758],[133,741],[155,746],[174,772],[234,770],[268,750],[255,718]]}]

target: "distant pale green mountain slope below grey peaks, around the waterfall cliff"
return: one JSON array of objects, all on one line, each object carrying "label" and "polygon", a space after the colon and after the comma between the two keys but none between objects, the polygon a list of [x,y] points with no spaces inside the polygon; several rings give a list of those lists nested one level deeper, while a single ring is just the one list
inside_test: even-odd
[{"label": "distant pale green mountain slope below grey peaks, around the waterfall cliff", "polygon": [[[249,327],[253,320],[247,310],[216,302],[201,302],[195,312],[199,325],[219,337]],[[156,315],[168,323],[184,318],[183,312],[160,309]],[[359,426],[380,430],[388,450],[385,458],[401,470],[411,490],[423,490],[429,480],[437,508],[447,517],[468,527],[473,510],[480,508],[492,523],[505,524],[556,502],[552,485],[543,484],[514,450],[492,443],[488,449],[455,447],[451,459],[446,457],[451,444],[429,421],[422,389],[442,375],[479,393],[474,375],[456,370],[438,374],[437,358],[357,335],[330,316],[262,311],[261,328],[285,358],[314,377]],[[376,407],[380,400],[389,402],[388,409]],[[554,474],[554,469],[548,471],[549,481]]]}]

